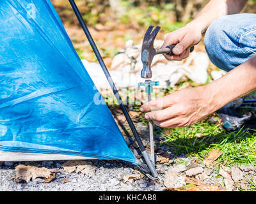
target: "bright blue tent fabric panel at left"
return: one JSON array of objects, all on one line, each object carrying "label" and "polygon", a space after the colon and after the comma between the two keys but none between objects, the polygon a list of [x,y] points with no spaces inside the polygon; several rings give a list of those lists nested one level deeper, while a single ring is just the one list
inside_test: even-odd
[{"label": "bright blue tent fabric panel at left", "polygon": [[0,39],[2,154],[138,163],[51,1],[1,1]]}]

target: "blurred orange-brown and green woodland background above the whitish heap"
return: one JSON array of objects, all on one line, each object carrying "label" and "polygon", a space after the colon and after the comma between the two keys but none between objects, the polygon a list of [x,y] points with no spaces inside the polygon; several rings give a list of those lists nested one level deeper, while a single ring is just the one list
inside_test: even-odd
[{"label": "blurred orange-brown and green woodland background above the whitish heap", "polygon": [[[51,0],[58,11],[77,53],[87,61],[96,61],[68,0]],[[139,43],[148,25],[159,25],[163,34],[182,27],[207,4],[208,0],[77,0],[86,24],[99,46],[107,66],[111,59],[124,48],[125,41]],[[246,4],[243,12],[255,11],[255,0]],[[204,48],[203,48],[204,49]]]}]

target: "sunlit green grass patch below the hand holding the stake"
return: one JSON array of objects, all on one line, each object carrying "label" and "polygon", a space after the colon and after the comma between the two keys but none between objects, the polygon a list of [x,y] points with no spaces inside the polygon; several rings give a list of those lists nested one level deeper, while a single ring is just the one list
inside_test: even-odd
[{"label": "sunlit green grass patch below the hand holding the stake", "polygon": [[196,156],[202,161],[211,149],[220,149],[223,153],[218,163],[256,166],[256,136],[252,130],[227,133],[220,124],[208,122],[198,122],[187,128],[156,129],[156,133],[163,136],[163,144],[172,147],[177,155]]}]

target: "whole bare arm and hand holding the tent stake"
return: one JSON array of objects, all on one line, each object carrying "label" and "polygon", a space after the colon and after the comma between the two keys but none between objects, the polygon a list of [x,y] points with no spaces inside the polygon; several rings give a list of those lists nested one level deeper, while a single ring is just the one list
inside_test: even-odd
[{"label": "whole bare arm and hand holding the tent stake", "polygon": [[[230,101],[256,90],[256,55],[202,87],[182,89],[141,106],[146,119],[163,128],[195,124]],[[162,109],[163,110],[159,110]],[[151,110],[155,110],[149,112]]]}]

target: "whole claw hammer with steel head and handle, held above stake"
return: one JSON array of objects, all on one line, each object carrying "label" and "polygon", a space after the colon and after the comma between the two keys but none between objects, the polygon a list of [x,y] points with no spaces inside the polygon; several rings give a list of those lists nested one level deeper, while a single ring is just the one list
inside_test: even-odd
[{"label": "whole claw hammer with steel head and handle, held above stake", "polygon": [[[152,78],[152,71],[151,71],[151,62],[155,55],[158,54],[168,54],[173,55],[172,49],[175,45],[169,45],[162,49],[155,49],[154,48],[154,40],[156,35],[161,27],[157,26],[154,31],[152,31],[154,25],[150,25],[147,29],[147,32],[143,38],[143,43],[141,47],[141,61],[143,64],[143,69],[141,70],[141,77],[142,78]],[[190,48],[190,52],[194,50],[194,46]]]}]

